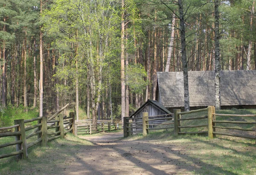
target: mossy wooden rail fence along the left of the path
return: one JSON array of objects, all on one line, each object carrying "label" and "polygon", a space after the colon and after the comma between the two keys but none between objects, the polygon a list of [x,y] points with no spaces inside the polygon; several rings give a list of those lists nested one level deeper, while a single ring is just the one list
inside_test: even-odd
[{"label": "mossy wooden rail fence along the left of the path", "polygon": [[[37,124],[35,124],[34,121],[37,121]],[[32,118],[30,120],[14,120],[14,126],[0,128],[0,131],[7,129],[14,129],[15,131],[1,133],[0,138],[14,136],[15,141],[1,144],[0,148],[16,145],[16,152],[0,155],[0,158],[7,158],[16,155],[18,159],[27,159],[27,150],[32,146],[36,144],[41,146],[47,146],[47,142],[50,140],[53,140],[55,138],[64,138],[64,135],[67,132],[74,133],[74,122],[74,112],[70,112],[69,117],[63,117],[63,115],[57,114],[54,116],[54,118],[49,118],[48,120],[47,117]],[[32,129],[34,129],[34,131],[31,132],[30,130]],[[31,133],[26,133],[28,131],[30,131]],[[31,141],[31,139],[34,140]]]}]

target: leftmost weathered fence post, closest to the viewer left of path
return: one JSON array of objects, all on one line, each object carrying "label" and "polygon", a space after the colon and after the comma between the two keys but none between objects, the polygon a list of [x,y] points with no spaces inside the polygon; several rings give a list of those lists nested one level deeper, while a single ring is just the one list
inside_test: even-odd
[{"label": "leftmost weathered fence post, closest to the viewer left of path", "polygon": [[14,120],[14,124],[20,125],[15,128],[15,132],[20,131],[20,135],[16,136],[16,141],[18,140],[22,141],[20,145],[16,146],[16,150],[17,151],[19,151],[20,149],[23,150],[23,153],[21,154],[21,156],[19,155],[17,156],[17,158],[23,158],[26,160],[28,158],[28,152],[27,152],[27,146],[26,146],[26,132],[25,132],[25,126],[24,126],[24,119]]}]

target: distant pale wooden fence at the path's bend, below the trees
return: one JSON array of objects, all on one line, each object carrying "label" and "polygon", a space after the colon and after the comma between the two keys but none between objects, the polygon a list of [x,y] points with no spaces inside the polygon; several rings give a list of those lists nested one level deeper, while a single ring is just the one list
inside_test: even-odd
[{"label": "distant pale wooden fence at the path's bend, below the trees", "polygon": [[98,132],[122,129],[122,120],[97,120],[97,124],[92,124],[92,120],[76,120],[75,135],[93,134]]}]

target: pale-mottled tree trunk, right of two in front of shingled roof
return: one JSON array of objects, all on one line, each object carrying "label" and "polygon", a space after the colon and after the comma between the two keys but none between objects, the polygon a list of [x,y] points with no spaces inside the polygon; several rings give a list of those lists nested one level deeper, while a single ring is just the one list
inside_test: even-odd
[{"label": "pale-mottled tree trunk, right of two in front of shingled roof", "polygon": [[219,34],[219,11],[218,11],[219,1],[215,0],[214,9],[215,9],[215,109],[221,109],[221,94],[220,94],[220,34]]}]

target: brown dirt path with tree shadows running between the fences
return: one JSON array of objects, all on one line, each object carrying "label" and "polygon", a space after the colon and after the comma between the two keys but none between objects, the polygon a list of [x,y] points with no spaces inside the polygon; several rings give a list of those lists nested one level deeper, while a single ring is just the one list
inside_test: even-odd
[{"label": "brown dirt path with tree shadows running between the fences", "polygon": [[192,174],[200,167],[186,165],[179,148],[163,141],[120,140],[122,132],[83,136],[94,146],[77,154],[68,175],[167,175]]}]

